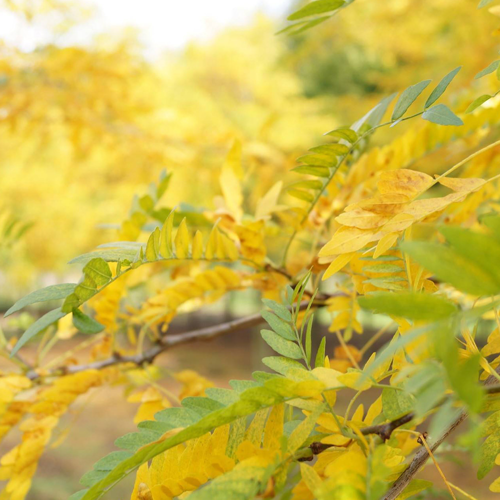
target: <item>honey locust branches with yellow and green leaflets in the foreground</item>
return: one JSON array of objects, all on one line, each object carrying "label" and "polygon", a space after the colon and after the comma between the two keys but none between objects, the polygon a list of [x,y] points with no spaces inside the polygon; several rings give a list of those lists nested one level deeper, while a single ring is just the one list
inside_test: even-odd
[{"label": "honey locust branches with yellow and green leaflets in the foreground", "polygon": [[[357,8],[352,0],[306,3],[285,30],[328,22],[346,7]],[[0,432],[15,427],[21,439],[0,458],[1,498],[24,498],[75,400],[119,384],[139,403],[137,431],[117,437],[73,500],[100,498],[128,474],[134,500],[402,500],[434,487],[417,473],[429,455],[439,467],[439,446],[459,424],[478,478],[495,468],[498,104],[493,93],[474,98],[473,87],[455,92],[454,110],[444,104],[459,69],[327,131],[298,158],[296,181],[283,187],[275,179],[254,203],[245,199],[251,180],[238,141],[220,165],[212,210],[171,209],[164,172],[134,198],[115,241],[71,261],[82,269],[78,282],[10,307],[7,316],[58,301],[19,338],[2,339],[13,368],[0,377]],[[476,79],[495,72],[498,61]],[[403,133],[373,144],[378,129],[402,122]],[[138,283],[154,292],[137,301]],[[261,294],[261,312],[169,332],[177,315],[249,288]],[[330,333],[317,338],[314,314],[324,311]],[[363,332],[375,317],[381,328]],[[186,369],[172,375],[179,394],[162,386],[162,352],[260,324],[275,355],[252,379],[217,388]],[[76,347],[50,356],[76,333],[86,335]],[[28,342],[37,342],[34,364],[23,353]],[[453,498],[462,492],[441,476],[436,487]],[[489,488],[500,491],[500,478]]]}]

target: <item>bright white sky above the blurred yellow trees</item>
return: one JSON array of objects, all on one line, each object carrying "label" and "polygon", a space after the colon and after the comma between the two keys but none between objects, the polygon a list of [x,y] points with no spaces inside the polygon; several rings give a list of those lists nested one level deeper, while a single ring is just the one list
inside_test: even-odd
[{"label": "bright white sky above the blurred yellow trees", "polygon": [[[85,43],[96,33],[123,26],[139,29],[149,55],[182,47],[191,39],[206,39],[219,29],[249,22],[257,12],[284,20],[290,0],[80,0],[97,5],[95,18],[73,30],[71,42]],[[0,10],[0,38],[31,50],[48,41],[44,29],[34,29]]]}]

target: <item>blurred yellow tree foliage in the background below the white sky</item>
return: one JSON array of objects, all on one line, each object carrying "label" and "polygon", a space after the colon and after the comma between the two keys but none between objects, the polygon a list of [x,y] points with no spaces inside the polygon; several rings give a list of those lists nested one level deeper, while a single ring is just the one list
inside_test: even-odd
[{"label": "blurred yellow tree foliage in the background below the white sky", "polygon": [[5,304],[70,273],[71,256],[115,239],[106,224],[120,223],[134,193],[165,167],[167,205],[213,209],[220,165],[239,139],[251,208],[322,132],[383,94],[462,64],[448,98],[464,108],[473,85],[493,88],[494,76],[470,81],[494,58],[500,34],[500,12],[476,12],[469,0],[356,0],[313,35],[276,36],[283,19],[258,15],[153,59],[130,29],[61,43],[92,15],[77,2],[4,0],[1,9],[49,40],[30,51],[0,42]]}]

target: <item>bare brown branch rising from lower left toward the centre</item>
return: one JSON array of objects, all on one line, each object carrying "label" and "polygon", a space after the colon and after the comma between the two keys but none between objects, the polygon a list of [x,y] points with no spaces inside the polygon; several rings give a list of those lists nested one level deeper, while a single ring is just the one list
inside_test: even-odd
[{"label": "bare brown branch rising from lower left toward the centre", "polygon": [[[299,309],[300,310],[305,309],[308,303],[309,303],[308,300],[303,300],[299,305]],[[316,298],[314,300],[314,305],[316,306],[323,304],[324,304],[324,298],[322,296],[319,299]],[[155,343],[152,347],[138,354],[121,355],[118,352],[115,352],[113,353],[112,356],[106,359],[101,359],[87,364],[61,366],[45,373],[43,373],[43,371],[41,370],[38,372],[37,370],[32,369],[26,373],[26,376],[31,380],[35,380],[41,376],[47,376],[47,375],[51,376],[56,374],[73,374],[89,369],[106,368],[107,366],[112,366],[114,364],[133,363],[136,365],[141,365],[143,363],[150,363],[154,360],[154,358],[158,354],[169,349],[170,347],[185,344],[188,342],[194,342],[197,340],[211,340],[212,338],[218,337],[220,335],[226,335],[227,333],[232,333],[237,330],[250,328],[252,326],[262,323],[263,321],[264,318],[262,317],[260,312],[256,312],[255,314],[250,314],[249,316],[233,319],[231,321],[227,321],[226,323],[215,324],[213,326],[206,326],[204,328],[185,331],[182,333],[165,335],[161,337],[157,341],[157,343]]]}]

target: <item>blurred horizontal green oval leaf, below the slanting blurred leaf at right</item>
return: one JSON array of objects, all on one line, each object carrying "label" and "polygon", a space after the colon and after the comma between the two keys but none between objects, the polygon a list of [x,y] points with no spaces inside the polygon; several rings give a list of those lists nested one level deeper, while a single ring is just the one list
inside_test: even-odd
[{"label": "blurred horizontal green oval leaf, below the slanting blurred leaf at right", "polygon": [[449,300],[428,293],[374,291],[358,297],[359,305],[374,312],[408,319],[441,319],[456,312]]}]

